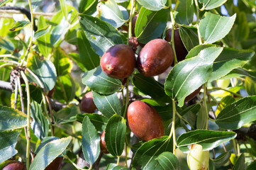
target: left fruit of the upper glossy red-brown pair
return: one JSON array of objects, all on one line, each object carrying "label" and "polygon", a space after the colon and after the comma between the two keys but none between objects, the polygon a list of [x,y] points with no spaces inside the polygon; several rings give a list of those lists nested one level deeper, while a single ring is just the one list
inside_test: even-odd
[{"label": "left fruit of the upper glossy red-brown pair", "polygon": [[101,57],[101,69],[114,79],[124,79],[133,73],[135,68],[135,54],[124,44],[110,47]]}]

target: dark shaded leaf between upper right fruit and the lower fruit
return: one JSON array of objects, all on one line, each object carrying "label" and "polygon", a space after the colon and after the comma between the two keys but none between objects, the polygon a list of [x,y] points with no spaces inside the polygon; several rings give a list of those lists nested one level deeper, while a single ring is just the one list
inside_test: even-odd
[{"label": "dark shaded leaf between upper right fruit and the lower fruit", "polygon": [[143,94],[148,94],[155,100],[166,103],[171,101],[171,98],[165,94],[165,87],[159,82],[155,81],[153,77],[144,77],[143,74],[140,73],[134,74],[133,85],[143,92]]}]

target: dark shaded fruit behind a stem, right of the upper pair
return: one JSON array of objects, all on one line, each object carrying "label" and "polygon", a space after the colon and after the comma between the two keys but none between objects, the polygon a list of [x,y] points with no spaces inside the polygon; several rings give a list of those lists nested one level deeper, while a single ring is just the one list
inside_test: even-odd
[{"label": "dark shaded fruit behind a stem, right of the upper pair", "polygon": [[[168,29],[166,31],[165,40],[168,42],[172,41],[172,29]],[[186,47],[184,46],[182,39],[179,35],[179,28],[174,30],[174,47],[177,56],[177,61],[180,62],[184,60],[188,54]]]}]

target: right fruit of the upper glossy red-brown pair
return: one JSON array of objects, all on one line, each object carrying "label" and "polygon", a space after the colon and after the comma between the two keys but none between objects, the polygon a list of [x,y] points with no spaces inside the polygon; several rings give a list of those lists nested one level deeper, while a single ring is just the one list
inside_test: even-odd
[{"label": "right fruit of the upper glossy red-brown pair", "polygon": [[140,51],[137,68],[145,77],[152,77],[165,72],[172,64],[174,54],[169,42],[155,39],[148,42]]}]

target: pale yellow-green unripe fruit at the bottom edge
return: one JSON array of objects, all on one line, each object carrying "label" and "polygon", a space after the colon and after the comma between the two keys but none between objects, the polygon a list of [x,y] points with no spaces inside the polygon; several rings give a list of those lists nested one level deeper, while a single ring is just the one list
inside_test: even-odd
[{"label": "pale yellow-green unripe fruit at the bottom edge", "polygon": [[187,164],[190,170],[207,170],[209,166],[209,151],[203,151],[198,144],[191,145],[187,155]]}]

